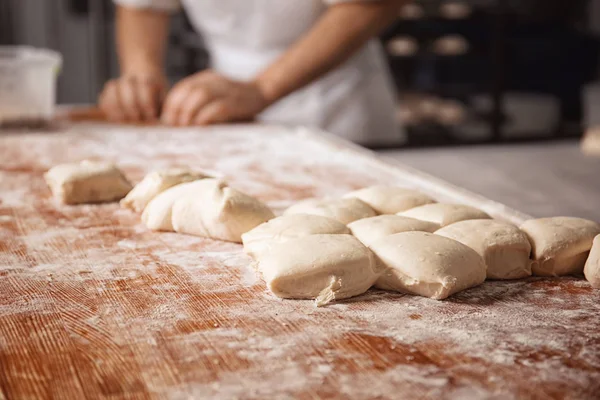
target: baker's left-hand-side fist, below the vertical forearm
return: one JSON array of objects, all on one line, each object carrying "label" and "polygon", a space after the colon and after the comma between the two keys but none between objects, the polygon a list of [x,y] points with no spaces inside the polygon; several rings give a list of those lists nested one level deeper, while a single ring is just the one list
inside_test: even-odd
[{"label": "baker's left-hand-side fist, below the vertical forearm", "polygon": [[104,85],[98,104],[110,121],[156,121],[166,93],[161,75],[125,75]]}]

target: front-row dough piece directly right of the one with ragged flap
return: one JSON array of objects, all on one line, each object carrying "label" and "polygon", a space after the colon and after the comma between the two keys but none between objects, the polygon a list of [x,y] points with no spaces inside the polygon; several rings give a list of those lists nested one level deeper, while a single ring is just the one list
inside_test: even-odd
[{"label": "front-row dough piece directly right of the one with ragged flap", "polygon": [[402,232],[371,245],[387,267],[375,286],[432,299],[481,284],[485,263],[470,247],[427,232]]}]

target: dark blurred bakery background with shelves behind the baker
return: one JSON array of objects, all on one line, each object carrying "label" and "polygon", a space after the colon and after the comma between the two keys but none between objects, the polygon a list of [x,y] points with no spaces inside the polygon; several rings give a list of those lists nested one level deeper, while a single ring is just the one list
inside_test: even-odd
[{"label": "dark blurred bakery background with shelves behind the baker", "polygon": [[[301,0],[299,0],[301,1]],[[61,104],[96,101],[118,74],[109,0],[0,0],[0,44],[58,50]],[[580,136],[600,125],[600,0],[419,0],[381,35],[403,145]],[[170,35],[172,81],[209,55],[185,15]]]}]

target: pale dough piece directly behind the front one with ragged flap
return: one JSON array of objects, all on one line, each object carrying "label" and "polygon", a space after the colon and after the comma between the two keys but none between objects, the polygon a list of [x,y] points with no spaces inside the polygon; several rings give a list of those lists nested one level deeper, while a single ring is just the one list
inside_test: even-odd
[{"label": "pale dough piece directly behind the front one with ragged flap", "polygon": [[260,224],[242,235],[244,251],[257,259],[271,245],[316,234],[350,234],[350,229],[335,219],[320,215],[290,214]]}]

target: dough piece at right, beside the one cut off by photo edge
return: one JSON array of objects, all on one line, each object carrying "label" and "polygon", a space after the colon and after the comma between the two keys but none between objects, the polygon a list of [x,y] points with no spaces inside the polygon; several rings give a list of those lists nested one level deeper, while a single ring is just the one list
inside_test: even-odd
[{"label": "dough piece at right, beside the one cut off by photo edge", "polygon": [[581,274],[600,225],[574,217],[530,219],[521,225],[531,242],[534,275]]}]

